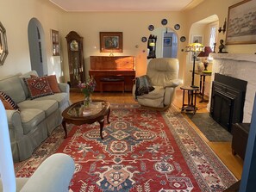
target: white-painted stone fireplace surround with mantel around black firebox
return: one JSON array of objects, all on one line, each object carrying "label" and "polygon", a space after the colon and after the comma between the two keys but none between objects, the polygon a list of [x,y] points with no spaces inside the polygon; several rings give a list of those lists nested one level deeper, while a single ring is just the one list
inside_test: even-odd
[{"label": "white-painted stone fireplace surround with mantel around black firebox", "polygon": [[[247,81],[243,122],[251,122],[256,92],[256,54],[210,53],[210,56],[214,59],[211,82],[214,81],[215,73]],[[211,98],[211,87],[209,90],[209,98]],[[210,101],[207,106],[208,110],[209,107]]]}]

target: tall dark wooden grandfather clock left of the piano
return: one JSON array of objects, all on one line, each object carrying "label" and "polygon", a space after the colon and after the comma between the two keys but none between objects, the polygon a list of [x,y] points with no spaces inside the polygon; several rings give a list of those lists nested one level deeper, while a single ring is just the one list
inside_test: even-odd
[{"label": "tall dark wooden grandfather clock left of the piano", "polygon": [[66,35],[68,65],[71,88],[78,88],[78,82],[84,82],[83,37],[71,31]]}]

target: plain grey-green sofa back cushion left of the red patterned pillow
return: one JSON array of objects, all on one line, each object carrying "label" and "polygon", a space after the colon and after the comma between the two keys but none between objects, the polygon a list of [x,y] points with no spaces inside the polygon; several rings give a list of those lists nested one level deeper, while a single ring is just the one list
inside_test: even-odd
[{"label": "plain grey-green sofa back cushion left of the red patterned pillow", "polygon": [[10,96],[16,103],[26,100],[25,92],[18,76],[0,80],[0,90]]}]

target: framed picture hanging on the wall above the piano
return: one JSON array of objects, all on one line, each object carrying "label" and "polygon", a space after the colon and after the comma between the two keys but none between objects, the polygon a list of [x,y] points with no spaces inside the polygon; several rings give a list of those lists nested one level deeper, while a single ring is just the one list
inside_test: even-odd
[{"label": "framed picture hanging on the wall above the piano", "polygon": [[100,32],[101,53],[122,53],[122,32]]}]

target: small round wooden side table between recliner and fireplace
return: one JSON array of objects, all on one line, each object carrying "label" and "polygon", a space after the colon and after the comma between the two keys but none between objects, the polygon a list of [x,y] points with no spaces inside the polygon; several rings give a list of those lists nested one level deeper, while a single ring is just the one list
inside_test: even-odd
[{"label": "small round wooden side table between recliner and fireplace", "polygon": [[[190,86],[182,86],[182,87],[180,87],[180,89],[183,90],[181,111],[193,112],[193,114],[196,114],[196,112],[197,112],[197,106],[196,106],[197,92],[199,91],[199,88],[198,87],[190,87]],[[188,94],[187,103],[184,102],[185,91],[187,91],[187,94]]]}]

